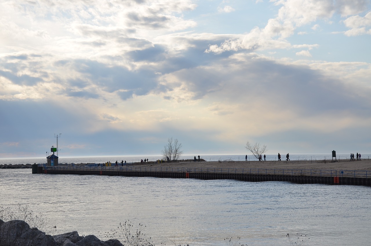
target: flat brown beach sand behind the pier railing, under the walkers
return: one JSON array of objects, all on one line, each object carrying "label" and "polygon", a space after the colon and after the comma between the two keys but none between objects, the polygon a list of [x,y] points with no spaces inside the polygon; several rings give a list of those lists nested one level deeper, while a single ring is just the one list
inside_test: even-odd
[{"label": "flat brown beach sand behind the pier railing, under the walkers", "polygon": [[181,167],[181,168],[260,168],[260,169],[317,169],[317,170],[367,170],[371,171],[371,160],[361,161],[340,160],[331,162],[328,160],[316,161],[223,161],[223,162],[170,162],[170,163],[152,163],[138,164],[135,166],[151,167]]}]

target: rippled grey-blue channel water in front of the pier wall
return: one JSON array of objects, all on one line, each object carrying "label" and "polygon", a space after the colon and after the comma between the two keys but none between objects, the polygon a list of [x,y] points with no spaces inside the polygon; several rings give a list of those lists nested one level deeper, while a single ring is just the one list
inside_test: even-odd
[{"label": "rippled grey-blue channel water in front of the pier wall", "polygon": [[[29,205],[58,233],[104,234],[139,223],[155,245],[370,245],[371,188],[234,180],[32,174],[0,169],[0,205]],[[135,226],[136,227],[136,226]],[[105,239],[107,240],[107,239]],[[237,243],[238,245],[238,243]]]}]

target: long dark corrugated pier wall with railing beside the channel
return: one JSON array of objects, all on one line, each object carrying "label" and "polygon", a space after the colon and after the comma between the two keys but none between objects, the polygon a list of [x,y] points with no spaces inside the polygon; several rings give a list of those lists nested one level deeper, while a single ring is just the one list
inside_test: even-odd
[{"label": "long dark corrugated pier wall with railing beside the channel", "polygon": [[[286,181],[298,184],[365,185],[369,177],[346,177],[343,171],[308,169],[151,168],[32,165],[33,174],[105,175],[156,178],[235,179],[249,182]],[[343,172],[344,173],[344,172]],[[339,177],[340,176],[340,177]]]}]

